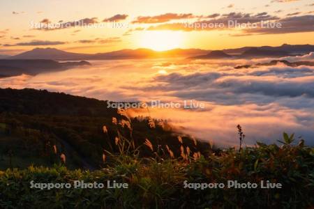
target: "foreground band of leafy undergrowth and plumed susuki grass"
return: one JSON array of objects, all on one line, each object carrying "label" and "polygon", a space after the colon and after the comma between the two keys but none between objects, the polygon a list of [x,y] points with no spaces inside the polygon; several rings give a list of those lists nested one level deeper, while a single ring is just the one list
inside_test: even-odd
[{"label": "foreground band of leafy undergrowth and plumed susuki grass", "polygon": [[[295,142],[294,135],[283,134],[281,146],[257,143],[254,147],[236,150],[207,150],[204,155],[182,137],[178,150],[158,144],[156,139],[145,139],[136,144],[133,125],[124,110],[122,118],[112,118],[116,134],[103,133],[108,141],[114,138],[112,152],[103,149],[102,169],[82,171],[29,167],[0,171],[0,208],[310,208],[314,204],[314,149]],[[154,120],[149,127],[156,128]],[[158,124],[157,124],[158,125]],[[126,131],[127,130],[127,131]],[[244,139],[238,126],[240,143]],[[195,147],[194,147],[195,146]],[[57,148],[54,150],[57,153]],[[143,155],[145,150],[149,155]],[[177,153],[177,155],[175,154]],[[73,183],[74,180],[98,182],[107,180],[128,183],[128,189],[51,189],[29,188],[37,183]],[[189,189],[189,183],[258,183],[269,180],[281,183],[282,189]]]}]

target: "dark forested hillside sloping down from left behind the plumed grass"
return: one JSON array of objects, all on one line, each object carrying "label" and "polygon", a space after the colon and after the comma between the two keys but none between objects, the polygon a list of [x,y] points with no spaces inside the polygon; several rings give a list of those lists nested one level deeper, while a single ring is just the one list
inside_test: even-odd
[{"label": "dark forested hillside sloping down from left behind the plumed grass", "polygon": [[[64,93],[50,93],[33,89],[0,88],[0,168],[10,167],[9,153],[13,154],[13,167],[28,167],[31,164],[52,166],[56,162],[54,146],[65,153],[68,167],[96,169],[101,162],[103,149],[117,152],[115,137],[130,137],[128,127],[115,125],[112,118],[125,123],[127,118],[117,114],[117,109],[108,109],[106,101],[82,98]],[[156,123],[151,128],[150,123]],[[163,149],[179,148],[177,134],[167,121],[151,118],[133,118],[132,137],[137,146],[145,139]],[[122,124],[121,122],[121,124]],[[162,123],[163,126],[158,124]],[[107,133],[103,132],[103,126]],[[119,132],[119,133],[117,133]],[[182,137],[191,150],[208,147],[201,142],[193,146],[193,140]],[[15,141],[12,143],[12,141]],[[141,148],[142,149],[142,148]],[[142,155],[151,155],[147,150]],[[179,151],[174,155],[180,155]]]}]

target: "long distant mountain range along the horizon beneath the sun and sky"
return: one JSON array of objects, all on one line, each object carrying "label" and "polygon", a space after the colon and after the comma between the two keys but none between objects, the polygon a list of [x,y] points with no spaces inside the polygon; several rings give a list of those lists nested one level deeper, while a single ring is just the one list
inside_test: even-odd
[{"label": "long distant mountain range along the horizon beneath the sun and sky", "polygon": [[[157,52],[152,49],[121,49],[97,54],[80,54],[65,52],[54,48],[36,48],[7,59],[52,59],[52,60],[107,60],[107,59],[158,59],[173,57],[192,57],[197,59],[223,59],[239,56],[287,56],[314,52],[314,45],[281,45],[279,47],[241,47],[237,49],[204,50],[204,49],[171,49]],[[1,58],[0,58],[1,59]]]}]

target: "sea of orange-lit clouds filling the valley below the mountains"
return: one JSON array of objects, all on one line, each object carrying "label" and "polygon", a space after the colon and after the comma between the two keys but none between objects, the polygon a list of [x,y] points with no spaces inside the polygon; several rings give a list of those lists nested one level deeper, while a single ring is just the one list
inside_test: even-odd
[{"label": "sea of orange-lit clouds filling the valley below the mountains", "polygon": [[[314,53],[282,58],[314,61]],[[234,146],[237,124],[246,145],[281,139],[294,132],[314,144],[314,67],[283,63],[256,68],[234,66],[265,63],[272,59],[188,59],[91,61],[91,67],[63,72],[21,75],[0,79],[1,88],[37,88],[83,95],[100,100],[203,102],[204,109],[150,109],[155,118],[167,119],[186,134],[219,146]],[[147,115],[147,111],[134,111]]]}]

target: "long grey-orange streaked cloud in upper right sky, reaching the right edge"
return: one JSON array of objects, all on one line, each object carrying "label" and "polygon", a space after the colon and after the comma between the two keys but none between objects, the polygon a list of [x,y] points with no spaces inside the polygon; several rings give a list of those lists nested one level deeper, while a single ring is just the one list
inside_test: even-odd
[{"label": "long grey-orange streaked cloud in upper right sky, reaching the right edge", "polygon": [[[277,12],[281,12],[278,10]],[[232,30],[235,28],[230,21],[237,24],[255,24],[256,26],[246,26],[241,28],[240,34],[235,36],[251,36],[260,34],[278,34],[278,33],[299,33],[314,31],[314,15],[299,15],[301,13],[290,13],[287,17],[279,18],[269,15],[266,12],[257,13],[227,13],[220,15],[219,18],[213,20],[199,20],[196,22],[174,22],[152,25],[147,30],[172,30],[172,31],[211,31],[211,30]],[[154,22],[154,21],[153,21]],[[262,26],[261,22],[264,22]],[[265,25],[266,22],[268,26]],[[202,26],[204,25],[204,27]]]}]

